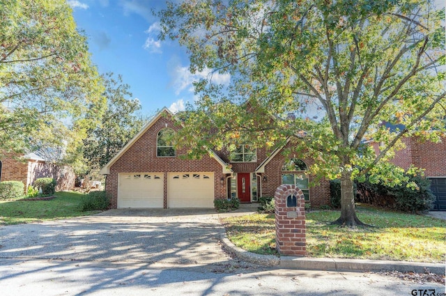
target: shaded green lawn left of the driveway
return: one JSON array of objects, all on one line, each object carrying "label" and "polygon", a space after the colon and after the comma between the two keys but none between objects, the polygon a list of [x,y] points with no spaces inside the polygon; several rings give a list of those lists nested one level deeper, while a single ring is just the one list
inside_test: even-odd
[{"label": "shaded green lawn left of the driveway", "polygon": [[45,220],[86,216],[98,211],[81,212],[84,194],[56,192],[50,201],[0,201],[0,225],[22,224]]}]

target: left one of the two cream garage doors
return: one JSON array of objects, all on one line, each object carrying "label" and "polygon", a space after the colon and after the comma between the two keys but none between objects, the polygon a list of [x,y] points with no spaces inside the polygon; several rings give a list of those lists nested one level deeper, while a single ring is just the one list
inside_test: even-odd
[{"label": "left one of the two cream garage doors", "polygon": [[118,208],[163,208],[163,173],[121,173]]}]

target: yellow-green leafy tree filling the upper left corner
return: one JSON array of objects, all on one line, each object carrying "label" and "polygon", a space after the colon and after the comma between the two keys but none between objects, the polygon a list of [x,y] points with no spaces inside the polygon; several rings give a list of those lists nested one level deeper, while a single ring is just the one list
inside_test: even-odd
[{"label": "yellow-green leafy tree filling the upper left corner", "polygon": [[[65,0],[0,0],[0,150],[75,161],[105,98]],[[79,156],[79,154],[77,154]]]}]

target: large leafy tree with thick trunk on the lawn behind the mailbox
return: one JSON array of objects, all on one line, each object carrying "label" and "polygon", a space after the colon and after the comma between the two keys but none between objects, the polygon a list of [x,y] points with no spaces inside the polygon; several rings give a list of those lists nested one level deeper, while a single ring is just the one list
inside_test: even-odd
[{"label": "large leafy tree with thick trunk on the lawn behind the mailbox", "polygon": [[[291,139],[317,159],[314,173],[341,179],[339,224],[361,224],[355,178],[385,171],[401,138],[438,140],[445,128],[444,10],[433,1],[185,0],[159,15],[160,38],[187,47],[190,70],[213,70],[187,114],[191,153]],[[231,84],[213,84],[214,72]],[[401,180],[385,175],[375,180]]]}]

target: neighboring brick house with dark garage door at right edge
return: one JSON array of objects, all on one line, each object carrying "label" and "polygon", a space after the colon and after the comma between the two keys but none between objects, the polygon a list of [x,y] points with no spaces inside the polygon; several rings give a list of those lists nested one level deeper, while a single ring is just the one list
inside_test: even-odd
[{"label": "neighboring brick house with dark garage door at right edge", "polygon": [[[431,179],[432,193],[436,196],[433,210],[446,210],[446,137],[440,143],[420,141],[415,137],[402,139],[406,144],[395,153],[393,164],[408,169],[411,164],[424,169],[425,176]],[[378,153],[379,143],[373,143]]]}]

